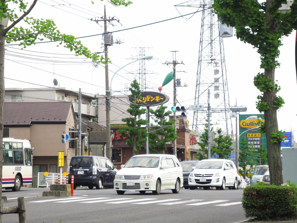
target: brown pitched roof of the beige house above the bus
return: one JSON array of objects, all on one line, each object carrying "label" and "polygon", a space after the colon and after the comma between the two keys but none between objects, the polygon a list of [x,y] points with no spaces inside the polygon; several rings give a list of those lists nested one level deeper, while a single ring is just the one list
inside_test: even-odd
[{"label": "brown pitched roof of the beige house above the bus", "polygon": [[65,123],[72,102],[5,102],[4,126],[32,123]]}]

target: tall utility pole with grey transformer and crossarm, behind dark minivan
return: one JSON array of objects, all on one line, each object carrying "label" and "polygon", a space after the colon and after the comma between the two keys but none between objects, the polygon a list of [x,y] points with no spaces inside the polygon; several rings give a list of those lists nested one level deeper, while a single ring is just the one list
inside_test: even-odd
[{"label": "tall utility pole with grey transformer and crossarm, behind dark minivan", "polygon": [[[101,17],[102,18],[102,17]],[[118,19],[106,18],[106,10],[104,6],[103,20],[91,19],[98,23],[98,21],[104,21],[104,59],[108,60],[108,46],[113,45],[113,35],[107,32],[107,22]],[[106,157],[111,160],[111,135],[110,135],[110,91],[109,91],[109,78],[108,78],[108,63],[105,64],[105,111],[106,111]]]}]

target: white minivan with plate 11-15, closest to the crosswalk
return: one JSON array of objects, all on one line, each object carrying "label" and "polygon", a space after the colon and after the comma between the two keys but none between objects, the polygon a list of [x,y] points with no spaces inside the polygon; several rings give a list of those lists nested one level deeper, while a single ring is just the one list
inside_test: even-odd
[{"label": "white minivan with plate 11-15, closest to the crosswalk", "polygon": [[171,189],[177,194],[183,186],[183,170],[176,156],[168,154],[143,154],[132,156],[117,172],[113,189],[118,194],[125,191],[153,191]]}]

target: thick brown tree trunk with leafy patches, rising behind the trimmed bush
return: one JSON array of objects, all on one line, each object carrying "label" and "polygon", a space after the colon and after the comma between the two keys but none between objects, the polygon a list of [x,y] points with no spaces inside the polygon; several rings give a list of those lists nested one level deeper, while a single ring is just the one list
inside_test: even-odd
[{"label": "thick brown tree trunk with leafy patches, rising behind the trimmed bush", "polygon": [[[272,78],[274,81],[274,69],[265,70],[264,75],[266,78]],[[263,99],[268,103],[269,109],[264,112],[265,117],[265,130],[267,139],[267,158],[269,165],[270,183],[275,185],[281,185],[283,183],[282,176],[282,160],[280,142],[271,142],[271,133],[278,131],[277,123],[277,109],[273,107],[274,99],[276,98],[275,90],[267,91],[263,93]]]}]

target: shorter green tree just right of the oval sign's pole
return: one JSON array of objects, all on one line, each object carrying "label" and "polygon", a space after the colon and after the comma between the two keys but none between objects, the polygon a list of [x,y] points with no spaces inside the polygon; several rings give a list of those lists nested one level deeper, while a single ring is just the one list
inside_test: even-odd
[{"label": "shorter green tree just right of the oval sign's pole", "polygon": [[153,129],[153,132],[149,132],[149,151],[151,153],[159,153],[161,151],[166,151],[166,143],[174,141],[177,139],[176,130],[174,128],[175,120],[169,120],[169,115],[171,111],[165,112],[167,106],[164,106],[161,103],[156,110],[150,109],[150,113],[153,115],[151,118],[158,126],[153,126],[152,123],[150,128]]}]

